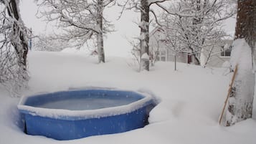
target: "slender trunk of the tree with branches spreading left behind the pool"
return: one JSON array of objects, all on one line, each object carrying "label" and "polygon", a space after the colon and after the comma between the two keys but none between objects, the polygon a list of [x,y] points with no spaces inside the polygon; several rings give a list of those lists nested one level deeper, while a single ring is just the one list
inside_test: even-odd
[{"label": "slender trunk of the tree with branches spreading left behind the pool", "polygon": [[98,59],[100,62],[105,62],[105,54],[103,48],[103,0],[98,0],[98,16],[97,25],[100,32],[97,34],[97,47],[98,47]]}]

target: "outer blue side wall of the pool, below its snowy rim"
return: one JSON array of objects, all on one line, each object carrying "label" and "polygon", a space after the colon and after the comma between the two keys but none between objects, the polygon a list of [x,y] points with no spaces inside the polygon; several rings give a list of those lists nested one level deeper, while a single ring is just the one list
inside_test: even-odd
[{"label": "outer blue side wall of the pool, below its snowy rim", "polygon": [[25,114],[27,133],[44,135],[57,140],[72,140],[91,135],[122,133],[148,124],[148,114],[155,106],[153,101],[130,113],[86,120],[57,120]]}]

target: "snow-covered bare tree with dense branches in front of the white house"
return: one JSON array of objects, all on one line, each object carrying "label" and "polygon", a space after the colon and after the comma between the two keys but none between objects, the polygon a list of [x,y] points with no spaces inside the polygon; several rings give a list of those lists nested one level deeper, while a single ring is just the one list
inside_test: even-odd
[{"label": "snow-covered bare tree with dense branches in front of the white house", "polygon": [[166,9],[166,14],[176,16],[176,27],[173,29],[179,33],[179,41],[191,54],[194,64],[201,64],[202,51],[212,52],[207,48],[216,45],[225,36],[220,29],[222,21],[235,14],[232,9],[227,10],[229,4],[224,0],[180,0],[169,10]]}]

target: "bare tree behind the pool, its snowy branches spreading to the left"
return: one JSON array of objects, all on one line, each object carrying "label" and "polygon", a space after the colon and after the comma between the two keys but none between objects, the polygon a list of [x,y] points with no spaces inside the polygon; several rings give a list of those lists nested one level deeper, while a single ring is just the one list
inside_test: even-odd
[{"label": "bare tree behind the pool, its snowy branches spreading to the left", "polygon": [[[94,39],[98,47],[98,61],[105,62],[103,34],[112,26],[103,16],[106,6],[115,0],[38,0],[39,11],[47,21],[57,21],[64,33],[60,39],[74,41],[82,47],[87,39]],[[46,8],[46,9],[45,9]]]}]

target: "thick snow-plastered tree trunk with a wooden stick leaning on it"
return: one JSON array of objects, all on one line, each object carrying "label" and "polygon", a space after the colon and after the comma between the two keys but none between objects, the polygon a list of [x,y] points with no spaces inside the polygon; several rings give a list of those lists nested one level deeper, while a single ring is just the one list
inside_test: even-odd
[{"label": "thick snow-plastered tree trunk with a wooden stick leaning on it", "polygon": [[[235,39],[245,39],[242,45],[243,51],[250,49],[249,53],[254,51],[255,48],[255,0],[238,0],[237,1],[237,25],[235,29]],[[236,40],[236,41],[237,41]],[[236,45],[234,43],[234,48],[232,53],[235,51]],[[242,52],[241,52],[242,53]],[[244,54],[246,52],[243,52]],[[247,57],[247,55],[242,55],[240,57]],[[250,55],[250,54],[249,54]],[[252,54],[253,56],[253,54]],[[240,62],[240,59],[234,58],[235,54],[231,55],[231,59],[234,59],[238,63],[237,77],[234,80],[234,87],[232,87],[232,94],[229,96],[229,104],[226,115],[226,125],[234,125],[237,122],[246,120],[252,117],[252,102],[254,97],[255,88],[255,74],[252,73],[252,59],[250,57],[247,63]],[[234,64],[232,64],[234,67]]]}]

